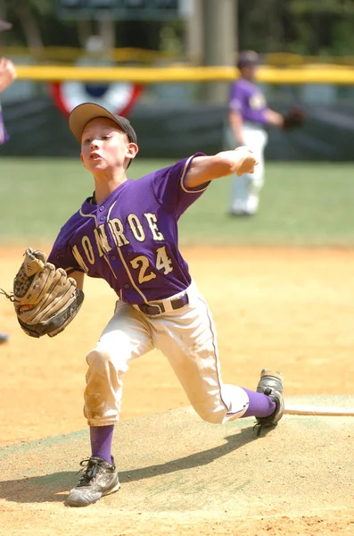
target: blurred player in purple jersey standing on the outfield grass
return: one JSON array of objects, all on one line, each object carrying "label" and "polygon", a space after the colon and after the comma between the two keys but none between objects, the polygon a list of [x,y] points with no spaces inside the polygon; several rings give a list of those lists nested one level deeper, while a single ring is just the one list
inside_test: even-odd
[{"label": "blurred player in purple jersey standing on the outfield grass", "polygon": [[235,176],[229,212],[235,216],[251,216],[259,207],[259,191],[264,183],[264,149],[268,142],[267,126],[282,128],[284,117],[268,108],[266,99],[254,83],[259,55],[252,50],[239,54],[237,68],[240,78],[231,84],[228,100],[227,145],[246,146],[259,164],[253,175]]}]

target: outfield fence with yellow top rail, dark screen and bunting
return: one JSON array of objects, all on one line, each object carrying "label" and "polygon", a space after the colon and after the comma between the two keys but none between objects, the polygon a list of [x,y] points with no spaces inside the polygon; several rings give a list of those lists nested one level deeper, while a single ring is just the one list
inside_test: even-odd
[{"label": "outfield fence with yellow top rail, dark screen and bunting", "polygon": [[[266,157],[352,161],[354,66],[302,63],[281,67],[280,58],[278,63],[259,66],[257,74],[268,105],[279,112],[293,104],[303,105],[308,121],[286,135],[269,129]],[[65,103],[66,112],[87,100],[112,107],[106,100],[110,96],[117,105],[119,91],[128,93],[125,82],[142,88],[128,111],[142,156],[178,158],[225,148],[226,98],[213,100],[208,89],[218,82],[226,96],[227,85],[238,76],[233,66],[16,63],[16,68],[19,82],[12,85],[7,100],[4,93],[3,101],[6,127],[16,141],[2,147],[3,155],[77,155],[62,113],[64,106],[58,101]]]}]

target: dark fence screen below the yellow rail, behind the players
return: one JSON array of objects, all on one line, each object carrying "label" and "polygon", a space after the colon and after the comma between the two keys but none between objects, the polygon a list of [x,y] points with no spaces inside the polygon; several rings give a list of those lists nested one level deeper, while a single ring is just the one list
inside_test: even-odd
[{"label": "dark fence screen below the yellow rail, behind the players", "polygon": [[[285,105],[269,101],[280,112]],[[353,161],[354,107],[304,106],[308,120],[284,133],[269,129],[268,160]],[[49,97],[21,100],[4,107],[10,142],[1,148],[9,156],[78,156],[78,143],[67,118]],[[194,152],[214,154],[226,148],[226,105],[138,104],[129,115],[139,139],[142,158],[183,158]]]}]

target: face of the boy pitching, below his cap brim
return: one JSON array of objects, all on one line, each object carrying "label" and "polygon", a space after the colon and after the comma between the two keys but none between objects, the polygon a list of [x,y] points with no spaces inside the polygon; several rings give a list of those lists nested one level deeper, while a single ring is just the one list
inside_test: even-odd
[{"label": "face of the boy pitching, below his cap brim", "polygon": [[127,134],[106,117],[88,121],[81,137],[81,160],[89,172],[126,167],[137,153]]}]

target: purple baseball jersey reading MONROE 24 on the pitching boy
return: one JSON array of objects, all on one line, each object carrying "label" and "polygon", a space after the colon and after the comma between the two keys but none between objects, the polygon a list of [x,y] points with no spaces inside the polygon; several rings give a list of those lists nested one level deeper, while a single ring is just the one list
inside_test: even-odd
[{"label": "purple baseball jersey reading MONROE 24 on the pitching boy", "polygon": [[68,274],[102,278],[132,305],[186,289],[191,276],[178,250],[177,221],[209,184],[185,187],[200,155],[126,180],[99,205],[87,198],[62,227],[48,261]]}]

